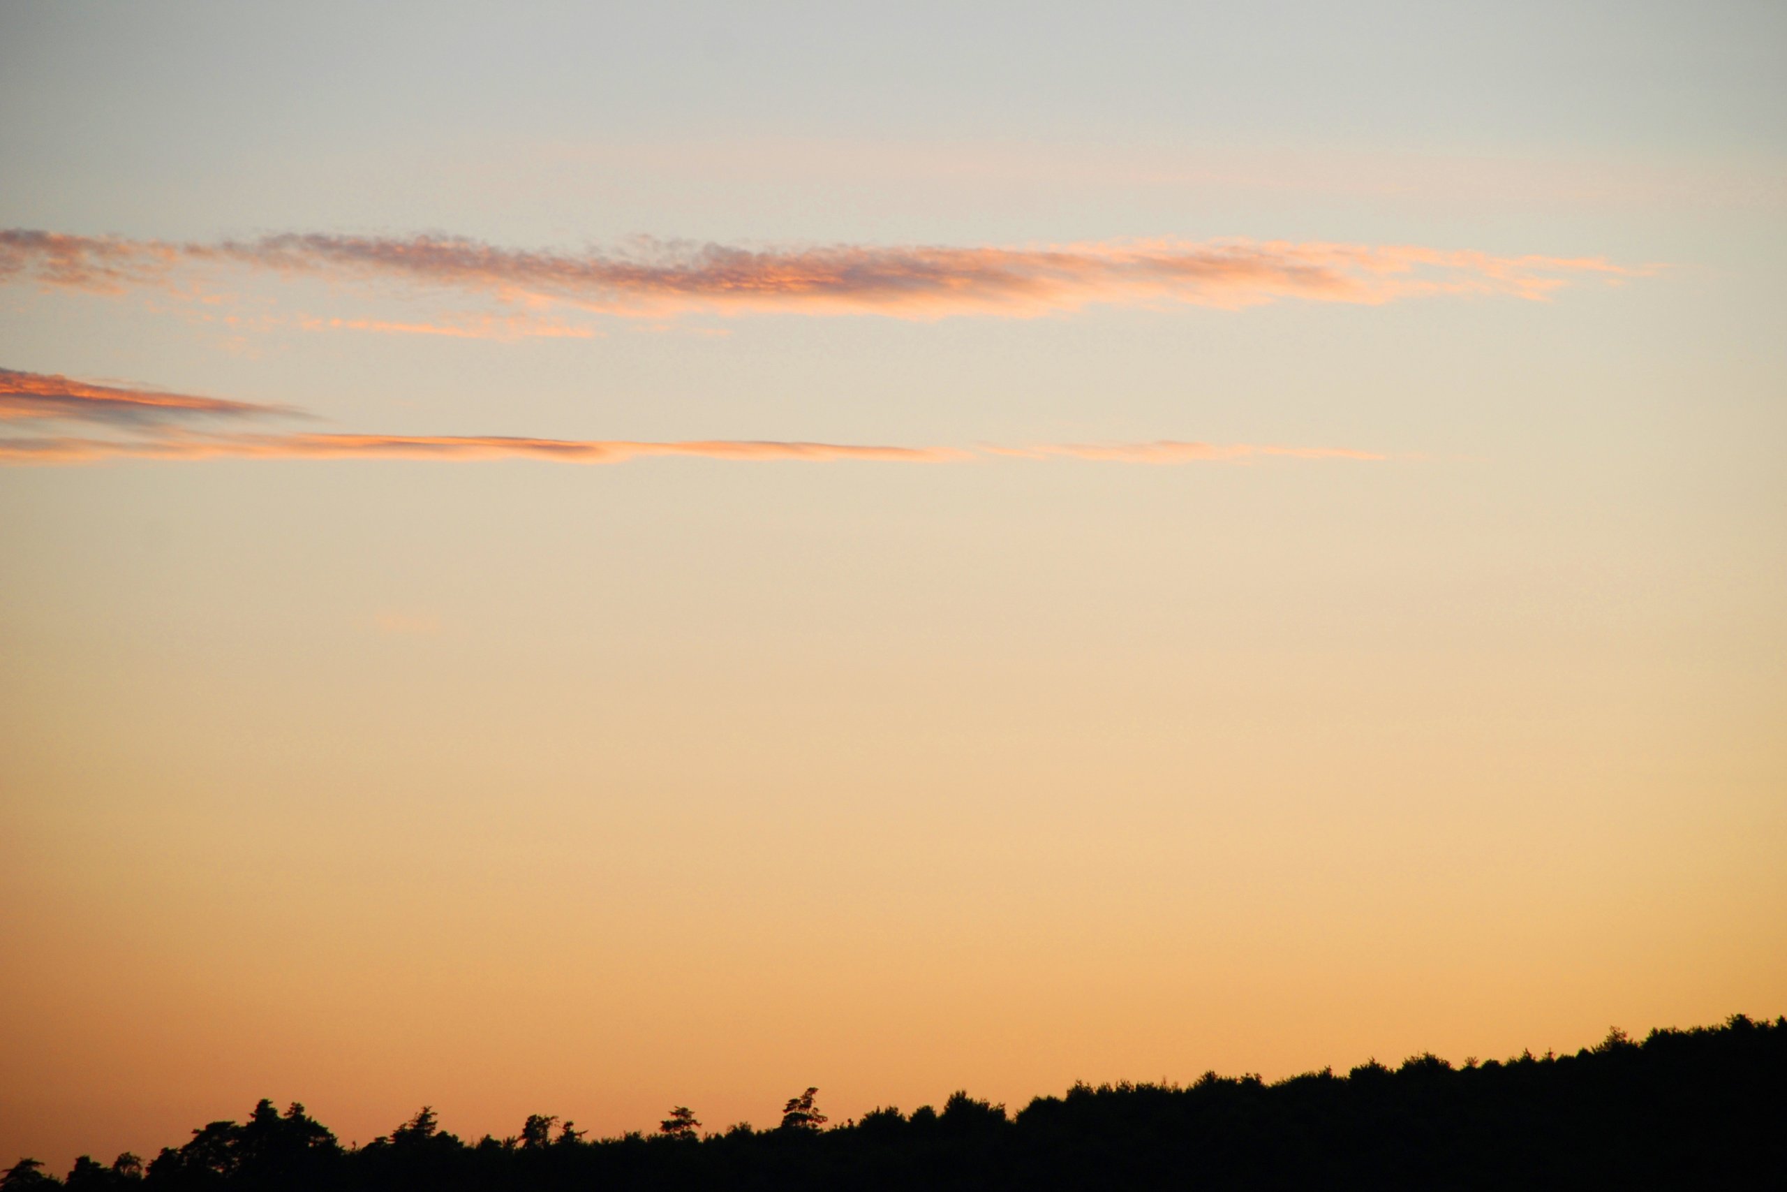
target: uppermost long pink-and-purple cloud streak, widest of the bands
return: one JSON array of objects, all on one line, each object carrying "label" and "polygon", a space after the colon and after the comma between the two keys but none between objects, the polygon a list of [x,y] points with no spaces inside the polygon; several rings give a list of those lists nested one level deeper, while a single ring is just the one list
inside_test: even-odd
[{"label": "uppermost long pink-and-purple cloud streak, widest of the bands", "polygon": [[0,281],[116,291],[172,284],[179,270],[207,264],[449,288],[642,318],[693,311],[1033,316],[1092,304],[1235,309],[1283,298],[1383,304],[1424,295],[1542,300],[1573,281],[1621,281],[1648,272],[1601,257],[1247,239],[742,248],[640,238],[613,250],[565,254],[452,236],[289,232],[175,245],[0,232]]}]

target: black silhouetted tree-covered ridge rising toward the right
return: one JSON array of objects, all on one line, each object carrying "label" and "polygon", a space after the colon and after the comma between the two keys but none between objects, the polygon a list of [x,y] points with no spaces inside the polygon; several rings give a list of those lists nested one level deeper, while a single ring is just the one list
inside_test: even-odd
[{"label": "black silhouetted tree-covered ridge rising toward the right", "polygon": [[25,1158],[0,1190],[1787,1188],[1787,1017],[1462,1069],[1419,1054],[1272,1085],[1074,1085],[1015,1117],[956,1092],[942,1112],[824,1129],[817,1095],[790,1097],[774,1129],[701,1135],[675,1106],[652,1137],[597,1140],[536,1113],[518,1137],[465,1142],[424,1106],[363,1147],[261,1101],[150,1163],[82,1156],[57,1179]]}]

